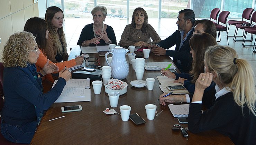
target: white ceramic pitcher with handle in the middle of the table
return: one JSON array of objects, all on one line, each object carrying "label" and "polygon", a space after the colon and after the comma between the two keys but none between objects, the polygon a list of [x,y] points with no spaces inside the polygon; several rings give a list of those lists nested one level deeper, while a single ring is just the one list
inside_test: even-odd
[{"label": "white ceramic pitcher with handle in the middle of the table", "polygon": [[[112,78],[125,79],[129,73],[129,66],[127,64],[125,54],[128,52],[128,49],[122,47],[116,47],[113,52],[107,52],[105,54],[106,61],[108,66],[111,66],[111,76]],[[107,55],[112,54],[112,61],[108,62]]]}]

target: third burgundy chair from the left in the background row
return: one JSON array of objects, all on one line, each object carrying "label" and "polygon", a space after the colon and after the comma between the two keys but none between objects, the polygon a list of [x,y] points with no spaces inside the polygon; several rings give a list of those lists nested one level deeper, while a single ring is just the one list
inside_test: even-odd
[{"label": "third burgundy chair from the left in the background row", "polygon": [[[244,11],[243,11],[243,14],[242,14],[242,20],[241,21],[236,21],[236,20],[229,20],[228,23],[228,30],[229,30],[229,26],[230,25],[234,25],[236,26],[238,23],[251,23],[251,15],[253,13],[253,10],[252,8],[246,8]],[[249,20],[249,22],[247,21],[244,21],[244,19],[246,20]],[[243,36],[244,36],[244,30],[243,30]],[[236,37],[243,37],[243,36],[236,36]],[[228,37],[235,37],[235,33],[234,33],[234,36],[228,36]]]}]

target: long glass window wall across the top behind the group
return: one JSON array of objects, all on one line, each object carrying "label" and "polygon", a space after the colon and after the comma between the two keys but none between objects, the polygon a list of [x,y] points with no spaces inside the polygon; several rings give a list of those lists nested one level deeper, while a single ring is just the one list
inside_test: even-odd
[{"label": "long glass window wall across the top behind the group", "polygon": [[[92,18],[91,10],[96,5],[102,5],[108,9],[107,19],[127,19],[127,17],[131,19],[132,12],[137,7],[144,8],[147,11],[148,18],[159,18],[159,16],[160,18],[176,18],[180,10],[190,8],[190,3],[192,3],[191,9],[194,10],[195,17],[197,18],[209,18],[211,10],[214,8],[220,8],[221,11],[229,11],[229,17],[241,18],[245,8],[255,8],[255,1],[256,0],[47,0],[47,4],[48,7],[57,6],[64,8],[65,18]],[[159,4],[161,4],[161,6],[159,6]]]}]

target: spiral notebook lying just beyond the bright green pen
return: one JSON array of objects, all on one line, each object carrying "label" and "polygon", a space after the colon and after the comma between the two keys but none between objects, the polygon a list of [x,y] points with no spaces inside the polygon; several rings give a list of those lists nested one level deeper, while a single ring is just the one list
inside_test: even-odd
[{"label": "spiral notebook lying just beyond the bright green pen", "polygon": [[172,62],[145,62],[146,70],[161,70],[166,68],[169,64],[172,64],[169,69],[176,69],[175,65]]}]

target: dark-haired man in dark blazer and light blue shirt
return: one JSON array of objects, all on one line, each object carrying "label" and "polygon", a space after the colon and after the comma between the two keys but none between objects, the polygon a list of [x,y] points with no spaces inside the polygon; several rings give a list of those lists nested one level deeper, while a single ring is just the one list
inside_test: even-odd
[{"label": "dark-haired man in dark blazer and light blue shirt", "polygon": [[[167,55],[173,57],[173,62],[181,72],[191,70],[192,56],[190,54],[189,39],[193,34],[195,14],[191,9],[179,11],[178,30],[163,41],[152,46],[151,51],[157,55]],[[200,41],[200,40],[199,40]],[[175,50],[166,50],[176,45]]]}]

